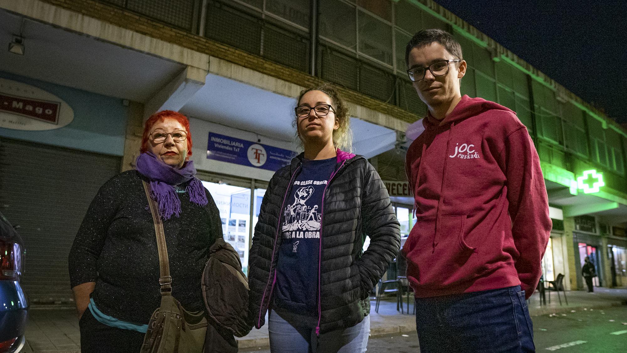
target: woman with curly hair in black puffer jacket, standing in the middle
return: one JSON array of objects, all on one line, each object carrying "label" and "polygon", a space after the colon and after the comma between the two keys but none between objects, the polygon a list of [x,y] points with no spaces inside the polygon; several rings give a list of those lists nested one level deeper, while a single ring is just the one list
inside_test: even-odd
[{"label": "woman with curly hair in black puffer jacket, standing in the middle", "polygon": [[374,167],[342,150],[349,115],[335,89],[303,90],[295,113],[304,152],[275,173],[261,203],[249,319],[260,328],[271,308],[272,352],[365,352],[369,292],[398,253],[399,223]]}]

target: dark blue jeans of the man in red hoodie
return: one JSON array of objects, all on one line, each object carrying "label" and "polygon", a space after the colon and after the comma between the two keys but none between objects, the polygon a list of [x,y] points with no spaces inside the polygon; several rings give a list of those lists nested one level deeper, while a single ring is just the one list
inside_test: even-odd
[{"label": "dark blue jeans of the man in red hoodie", "polygon": [[535,352],[520,286],[416,298],[416,331],[421,353]]}]

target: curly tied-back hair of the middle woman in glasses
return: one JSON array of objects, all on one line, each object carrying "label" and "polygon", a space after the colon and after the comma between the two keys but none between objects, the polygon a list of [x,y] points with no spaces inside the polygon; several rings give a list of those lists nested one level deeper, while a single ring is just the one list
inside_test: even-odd
[{"label": "curly tied-back hair of the middle woman in glasses", "polygon": [[[349,108],[346,106],[346,102],[340,94],[335,90],[332,85],[320,85],[300,91],[296,105],[300,103],[305,93],[310,91],[320,91],[331,98],[331,103],[335,111],[335,121],[339,127],[333,130],[333,145],[335,148],[344,150],[346,152],[352,152],[352,132],[350,131],[350,116]],[[302,139],[298,135],[298,117],[294,115],[292,126],[296,129],[296,135],[302,146]]]}]

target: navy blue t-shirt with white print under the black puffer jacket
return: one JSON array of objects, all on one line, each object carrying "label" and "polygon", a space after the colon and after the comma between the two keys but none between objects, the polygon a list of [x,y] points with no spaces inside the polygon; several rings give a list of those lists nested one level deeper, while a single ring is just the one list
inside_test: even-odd
[{"label": "navy blue t-shirt with white print under the black puffer jacket", "polygon": [[300,315],[318,313],[318,260],[322,194],[336,158],[303,159],[283,208],[275,306]]}]

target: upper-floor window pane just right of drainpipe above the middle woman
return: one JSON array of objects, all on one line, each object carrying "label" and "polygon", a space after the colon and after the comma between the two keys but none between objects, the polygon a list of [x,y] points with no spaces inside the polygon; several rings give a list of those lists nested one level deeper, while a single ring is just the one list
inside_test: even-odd
[{"label": "upper-floor window pane just right of drainpipe above the middle woman", "polygon": [[320,0],[320,36],[356,50],[355,8],[339,0]]}]

